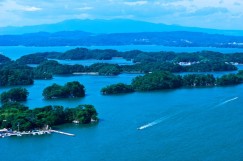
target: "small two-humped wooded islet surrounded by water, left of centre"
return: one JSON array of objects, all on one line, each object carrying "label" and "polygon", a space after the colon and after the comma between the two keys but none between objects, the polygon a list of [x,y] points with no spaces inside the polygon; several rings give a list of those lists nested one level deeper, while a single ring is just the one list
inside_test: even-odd
[{"label": "small two-humped wooded islet surrounded by water, left of centre", "polygon": [[68,82],[64,86],[54,83],[43,90],[45,99],[84,97],[84,86],[77,81]]}]

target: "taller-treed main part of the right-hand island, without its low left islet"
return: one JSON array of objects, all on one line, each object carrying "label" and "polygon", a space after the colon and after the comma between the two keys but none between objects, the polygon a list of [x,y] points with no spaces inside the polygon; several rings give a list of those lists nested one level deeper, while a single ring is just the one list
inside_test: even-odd
[{"label": "taller-treed main part of the right-hand island, without its low left islet", "polygon": [[132,86],[136,91],[151,91],[161,89],[171,89],[179,87],[207,87],[207,86],[226,86],[235,85],[243,81],[242,75],[228,74],[220,78],[214,78],[207,74],[188,74],[183,77],[169,72],[156,72],[136,77],[132,81]]}]

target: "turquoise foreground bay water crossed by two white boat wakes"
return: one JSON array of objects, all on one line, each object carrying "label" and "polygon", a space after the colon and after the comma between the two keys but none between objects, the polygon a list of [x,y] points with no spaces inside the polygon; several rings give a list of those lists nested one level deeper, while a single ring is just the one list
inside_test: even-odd
[{"label": "turquoise foreground bay water crossed by two white boat wakes", "polygon": [[[243,84],[115,96],[100,94],[102,87],[130,83],[136,76],[55,76],[25,86],[30,92],[26,102],[30,108],[93,104],[101,120],[97,125],[57,127],[75,137],[52,134],[0,139],[0,160],[243,160]],[[42,90],[46,86],[74,80],[85,85],[85,98],[43,100]],[[0,93],[9,88],[1,87]],[[141,127],[145,128],[138,130]]]}]

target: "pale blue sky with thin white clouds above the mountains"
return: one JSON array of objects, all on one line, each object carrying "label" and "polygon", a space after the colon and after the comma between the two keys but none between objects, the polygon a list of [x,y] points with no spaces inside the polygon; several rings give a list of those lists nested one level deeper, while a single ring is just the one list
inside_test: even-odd
[{"label": "pale blue sky with thin white clouds above the mountains", "polygon": [[243,30],[243,0],[0,0],[0,26],[132,19]]}]

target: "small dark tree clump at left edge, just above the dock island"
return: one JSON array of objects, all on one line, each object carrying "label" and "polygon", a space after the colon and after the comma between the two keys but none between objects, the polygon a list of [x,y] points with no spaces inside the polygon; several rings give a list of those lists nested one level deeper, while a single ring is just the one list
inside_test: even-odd
[{"label": "small dark tree clump at left edge, just above the dock island", "polygon": [[7,92],[3,92],[1,97],[1,102],[20,102],[20,101],[26,101],[27,97],[29,95],[29,92],[27,89],[18,87],[18,88],[12,88]]}]

